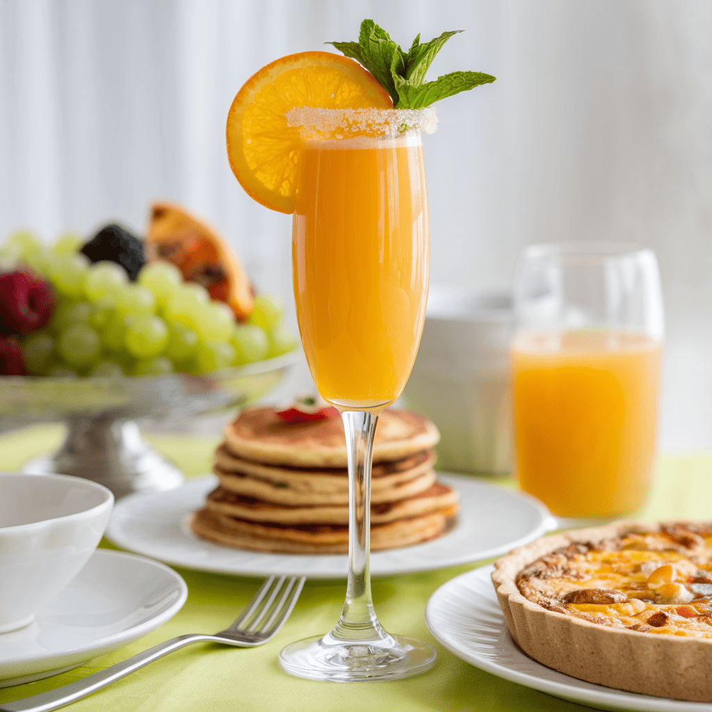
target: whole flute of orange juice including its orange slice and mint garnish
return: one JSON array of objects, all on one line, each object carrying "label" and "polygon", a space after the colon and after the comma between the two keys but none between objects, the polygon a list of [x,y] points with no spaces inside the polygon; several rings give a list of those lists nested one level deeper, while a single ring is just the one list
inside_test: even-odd
[{"label": "whole flute of orange juice including its orange slice and mint garnish", "polygon": [[[428,288],[422,132],[429,105],[494,80],[425,74],[455,33],[402,51],[372,20],[346,57],[304,52],[259,70],[236,95],[230,164],[263,205],[293,214],[299,330],[320,395],[341,412],[349,464],[349,560],[339,622],[287,646],[280,664],[314,680],[398,679],[429,669],[431,646],[381,627],[370,582],[370,478],[379,413],[418,350]],[[360,66],[355,61],[361,63]]]}]

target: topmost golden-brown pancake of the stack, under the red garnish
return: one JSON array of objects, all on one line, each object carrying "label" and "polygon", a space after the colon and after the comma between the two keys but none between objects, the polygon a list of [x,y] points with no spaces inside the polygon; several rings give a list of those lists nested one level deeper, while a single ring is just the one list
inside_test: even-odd
[{"label": "topmost golden-brown pancake of the stack, under the red garnish", "polygon": [[[417,413],[384,410],[373,446],[375,463],[404,459],[433,447],[436,426]],[[225,429],[226,449],[234,456],[261,464],[307,468],[347,467],[346,438],[340,418],[288,423],[275,408],[243,412]]]}]

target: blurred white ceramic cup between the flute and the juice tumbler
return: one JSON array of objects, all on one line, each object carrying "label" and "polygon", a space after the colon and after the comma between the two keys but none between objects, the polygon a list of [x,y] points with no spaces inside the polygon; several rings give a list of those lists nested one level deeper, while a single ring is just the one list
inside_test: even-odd
[{"label": "blurred white ceramic cup between the flute and the juice tumbler", "polygon": [[431,286],[408,405],[440,430],[441,470],[511,471],[508,293]]}]

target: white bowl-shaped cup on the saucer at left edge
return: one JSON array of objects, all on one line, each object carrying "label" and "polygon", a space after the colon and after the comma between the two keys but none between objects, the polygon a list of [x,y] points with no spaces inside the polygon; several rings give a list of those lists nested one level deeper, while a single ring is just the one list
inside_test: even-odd
[{"label": "white bowl-shaped cup on the saucer at left edge", "polygon": [[80,572],[113,504],[80,477],[0,473],[0,633],[30,624]]}]

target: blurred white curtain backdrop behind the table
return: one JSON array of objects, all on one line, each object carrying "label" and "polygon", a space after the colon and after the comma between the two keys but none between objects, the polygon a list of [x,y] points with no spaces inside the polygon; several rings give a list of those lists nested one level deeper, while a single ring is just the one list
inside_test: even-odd
[{"label": "blurred white curtain backdrop behind the table", "polygon": [[[150,202],[174,199],[290,301],[290,218],[232,176],[227,110],[255,70],[353,40],[365,17],[406,47],[464,29],[431,74],[498,77],[437,105],[426,137],[432,281],[506,285],[537,241],[651,246],[663,441],[712,445],[709,0],[0,0],[0,239],[140,233]],[[704,417],[681,422],[690,409]]]}]

